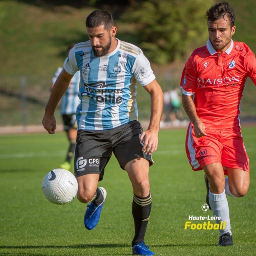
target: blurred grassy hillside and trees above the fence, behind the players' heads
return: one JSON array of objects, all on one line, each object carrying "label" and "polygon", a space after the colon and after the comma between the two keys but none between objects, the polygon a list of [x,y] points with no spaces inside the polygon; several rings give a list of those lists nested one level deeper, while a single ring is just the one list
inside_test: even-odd
[{"label": "blurred grassy hillside and trees above the fence, behind the players' heads", "polygon": [[[52,76],[67,45],[88,40],[85,18],[95,9],[113,13],[117,37],[141,47],[151,62],[182,63],[207,40],[206,10],[214,0],[0,2],[0,75]],[[234,40],[256,51],[254,0],[230,0],[236,10]],[[155,69],[164,66],[154,65]]]}]

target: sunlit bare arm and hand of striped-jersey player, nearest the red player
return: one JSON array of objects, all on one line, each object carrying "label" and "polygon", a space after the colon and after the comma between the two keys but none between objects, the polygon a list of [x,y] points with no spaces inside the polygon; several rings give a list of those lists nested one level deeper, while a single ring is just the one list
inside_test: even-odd
[{"label": "sunlit bare arm and hand of striped-jersey player, nearest the red player", "polygon": [[149,128],[146,132],[142,132],[140,140],[144,143],[142,150],[147,154],[152,154],[157,150],[158,132],[160,119],[163,109],[163,92],[157,80],[153,80],[144,89],[150,94],[151,99],[151,116]]}]

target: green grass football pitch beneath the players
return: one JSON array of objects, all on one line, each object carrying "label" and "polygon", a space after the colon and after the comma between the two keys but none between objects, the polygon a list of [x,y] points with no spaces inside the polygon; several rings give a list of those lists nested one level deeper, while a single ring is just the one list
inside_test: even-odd
[{"label": "green grass football pitch beneath the players", "polygon": [[[242,129],[251,157],[251,186],[244,198],[230,198],[234,246],[221,248],[218,231],[184,230],[189,215],[204,216],[203,172],[191,171],[184,152],[186,129],[162,130],[150,168],[152,212],[145,241],[157,256],[255,255],[256,134]],[[67,140],[55,135],[0,136],[0,255],[131,255],[134,234],[132,186],[112,157],[100,186],[107,200],[98,226],[83,225],[86,205],[76,198],[51,204],[42,194],[42,179],[63,162]]]}]

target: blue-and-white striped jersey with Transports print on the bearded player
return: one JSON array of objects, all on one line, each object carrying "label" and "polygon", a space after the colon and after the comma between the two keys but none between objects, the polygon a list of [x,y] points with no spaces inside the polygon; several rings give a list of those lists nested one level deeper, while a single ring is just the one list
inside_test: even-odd
[{"label": "blue-and-white striped jersey with Transports print on the bearded player", "polygon": [[80,70],[78,129],[112,129],[137,120],[136,82],[145,86],[155,79],[142,50],[120,40],[103,57],[94,57],[90,41],[81,42],[70,51],[64,68],[70,75]]}]

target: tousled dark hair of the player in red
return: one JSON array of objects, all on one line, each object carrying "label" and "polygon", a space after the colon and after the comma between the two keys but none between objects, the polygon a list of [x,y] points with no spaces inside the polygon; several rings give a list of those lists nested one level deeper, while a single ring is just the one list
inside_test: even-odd
[{"label": "tousled dark hair of the player in red", "polygon": [[219,20],[221,17],[225,19],[225,15],[229,18],[230,27],[232,28],[235,24],[236,14],[228,2],[220,2],[219,4],[211,6],[211,8],[206,11],[205,17],[207,22],[209,22]]}]

